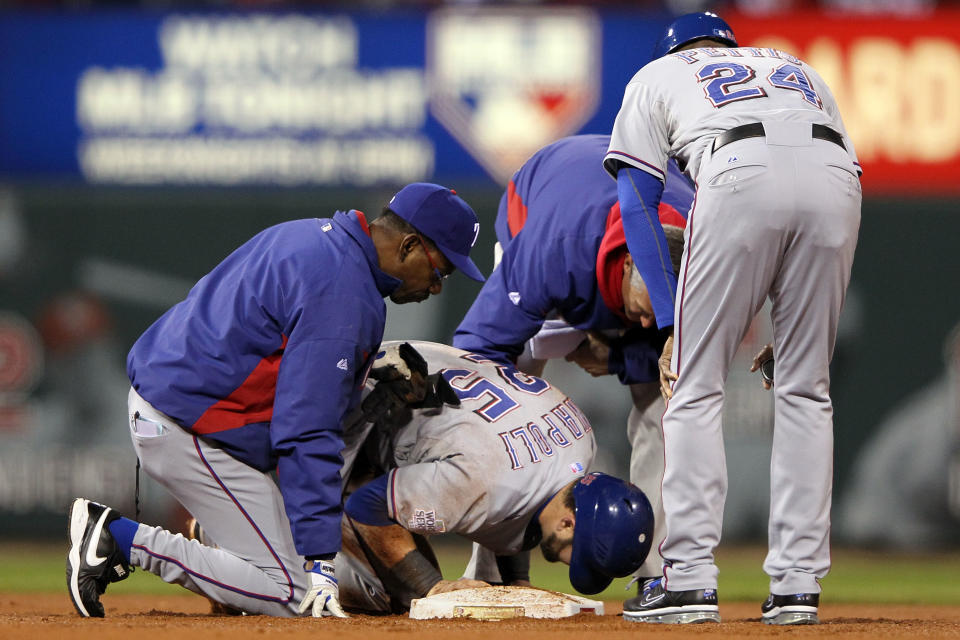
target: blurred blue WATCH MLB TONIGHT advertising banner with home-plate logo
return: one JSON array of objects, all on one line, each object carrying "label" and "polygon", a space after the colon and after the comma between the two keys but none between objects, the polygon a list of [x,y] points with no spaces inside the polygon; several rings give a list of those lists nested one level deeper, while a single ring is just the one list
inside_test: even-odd
[{"label": "blurred blue WATCH MLB TONIGHT advertising banner with home-plate logo", "polygon": [[544,144],[609,130],[615,94],[667,19],[606,28],[588,8],[0,15],[0,173],[504,183]]}]

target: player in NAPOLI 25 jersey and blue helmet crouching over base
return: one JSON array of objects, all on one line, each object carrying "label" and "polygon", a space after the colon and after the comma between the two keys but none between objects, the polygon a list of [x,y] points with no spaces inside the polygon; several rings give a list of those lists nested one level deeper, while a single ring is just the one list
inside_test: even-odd
[{"label": "player in NAPOLI 25 jersey and blue helmet crouching over base", "polygon": [[[376,475],[345,506],[337,556],[345,607],[402,611],[412,598],[459,586],[442,581],[421,535],[458,533],[502,556],[539,543],[548,560],[570,565],[571,584],[587,594],[642,564],[652,541],[650,503],[629,483],[585,475],[593,431],[565,394],[510,365],[411,344],[459,405],[433,403],[399,428],[384,431],[381,420],[345,434],[345,478]],[[372,466],[358,455],[361,446],[376,452]]]}]

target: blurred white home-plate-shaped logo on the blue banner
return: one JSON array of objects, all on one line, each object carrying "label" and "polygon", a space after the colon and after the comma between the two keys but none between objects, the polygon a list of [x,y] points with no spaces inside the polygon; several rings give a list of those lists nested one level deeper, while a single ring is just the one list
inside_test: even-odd
[{"label": "blurred white home-plate-shaped logo on the blue banner", "polygon": [[441,9],[427,22],[437,120],[502,184],[576,133],[600,100],[601,23],[588,8]]}]

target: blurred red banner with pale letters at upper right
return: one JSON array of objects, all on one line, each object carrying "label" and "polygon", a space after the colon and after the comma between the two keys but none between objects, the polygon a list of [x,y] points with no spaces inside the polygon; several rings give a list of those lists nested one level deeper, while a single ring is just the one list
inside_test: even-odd
[{"label": "blurred red banner with pale letters at upper right", "polygon": [[725,17],[741,45],[792,53],[827,81],[865,193],[960,194],[960,11]]}]

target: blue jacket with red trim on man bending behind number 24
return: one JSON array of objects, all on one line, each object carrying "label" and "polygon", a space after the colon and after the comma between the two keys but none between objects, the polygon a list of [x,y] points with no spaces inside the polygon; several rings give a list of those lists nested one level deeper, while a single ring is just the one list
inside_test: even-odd
[{"label": "blue jacket with red trim on man bending behind number 24", "polygon": [[[533,155],[500,200],[494,228],[503,248],[453,344],[515,362],[552,311],[578,329],[625,329],[611,344],[610,372],[624,384],[658,379],[665,334],[633,325],[604,301],[597,256],[620,225],[617,183],[603,169],[610,136],[564,138]],[[663,208],[686,216],[690,183],[671,163]],[[622,233],[622,225],[616,231]]]}]

